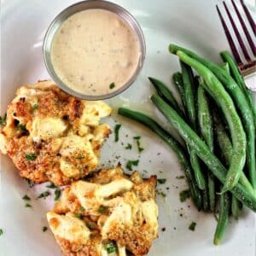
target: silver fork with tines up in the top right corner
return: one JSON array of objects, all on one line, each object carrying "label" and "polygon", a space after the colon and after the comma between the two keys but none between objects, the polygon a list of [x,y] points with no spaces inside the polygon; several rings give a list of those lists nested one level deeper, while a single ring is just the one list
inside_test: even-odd
[{"label": "silver fork with tines up in the top right corner", "polygon": [[[256,59],[255,59],[256,47],[255,47],[255,44],[254,44],[255,39],[253,41],[253,38],[251,37],[250,33],[248,32],[248,28],[245,24],[245,21],[243,20],[243,18],[241,16],[241,13],[239,12],[239,10],[236,6],[236,3],[234,2],[234,0],[231,0],[231,2],[232,2],[232,5],[233,5],[233,7],[236,11],[237,18],[240,21],[242,30],[246,35],[247,44],[252,49],[253,58],[251,58],[250,54],[248,53],[247,47],[246,47],[244,41],[241,38],[241,33],[238,31],[236,23],[233,20],[232,15],[230,14],[230,10],[228,9],[225,2],[223,2],[224,9],[225,9],[225,11],[228,15],[231,26],[233,27],[233,30],[236,34],[237,41],[241,46],[241,54],[243,54],[243,57],[246,61],[241,60],[242,56],[239,54],[239,51],[236,48],[236,44],[234,43],[234,40],[233,40],[233,38],[230,34],[229,28],[228,28],[228,26],[226,25],[226,23],[224,21],[223,15],[221,14],[220,10],[218,9],[218,5],[216,5],[217,11],[218,11],[218,16],[219,16],[219,19],[220,19],[220,21],[222,23],[222,26],[224,28],[224,33],[226,35],[226,38],[228,39],[228,42],[230,44],[230,49],[231,49],[231,51],[232,51],[232,53],[233,53],[233,55],[236,59],[237,66],[239,67],[239,69],[241,71],[241,75],[244,77],[244,79],[246,79],[245,81],[246,81],[246,84],[247,84],[247,88],[250,89],[250,90],[256,91],[256,87],[255,87],[256,79],[255,79],[255,76],[252,77],[252,74],[256,75]],[[248,20],[248,22],[251,26],[251,29],[253,30],[253,34],[254,34],[254,37],[255,37],[256,36],[256,25],[254,23],[253,17],[250,14],[249,10],[247,9],[247,6],[245,5],[245,3],[242,0],[240,0],[240,3],[241,3],[241,6],[244,10],[245,15],[247,16],[247,20]],[[250,78],[250,79],[247,79],[247,78]],[[251,83],[254,83],[254,86]]]}]

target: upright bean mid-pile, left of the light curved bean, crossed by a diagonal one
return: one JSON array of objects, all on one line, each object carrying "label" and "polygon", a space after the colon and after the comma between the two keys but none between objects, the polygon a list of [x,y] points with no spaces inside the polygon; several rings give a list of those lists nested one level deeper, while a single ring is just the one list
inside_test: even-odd
[{"label": "upright bean mid-pile, left of the light curved bean, crossed by a diagonal one", "polygon": [[[213,153],[212,113],[210,111],[207,93],[201,86],[201,83],[203,83],[203,81],[199,79],[199,87],[197,90],[198,123],[201,130],[201,136]],[[212,177],[210,172],[207,172],[207,185],[210,210],[213,212],[215,209],[215,184],[214,177]]]}]

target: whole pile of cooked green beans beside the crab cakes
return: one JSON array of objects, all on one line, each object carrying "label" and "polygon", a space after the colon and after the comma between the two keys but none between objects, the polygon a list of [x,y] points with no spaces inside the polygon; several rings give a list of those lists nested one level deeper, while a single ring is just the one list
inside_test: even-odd
[{"label": "whole pile of cooked green beans beside the crab cakes", "polygon": [[230,215],[238,219],[242,206],[256,212],[255,107],[229,52],[221,52],[225,62],[218,66],[174,44],[169,50],[180,61],[181,72],[172,75],[180,99],[148,78],[157,92],[151,100],[186,147],[143,113],[119,108],[119,114],[146,125],[177,154],[198,210],[218,212],[218,245]]}]

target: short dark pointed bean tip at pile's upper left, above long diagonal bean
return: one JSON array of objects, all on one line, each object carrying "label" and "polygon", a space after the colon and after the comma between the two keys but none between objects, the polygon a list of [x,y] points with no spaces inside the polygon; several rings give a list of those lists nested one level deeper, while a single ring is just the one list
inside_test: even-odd
[{"label": "short dark pointed bean tip at pile's upper left, above long diagonal bean", "polygon": [[161,96],[168,104],[170,104],[180,116],[184,116],[182,109],[179,107],[175,97],[172,95],[172,91],[167,88],[166,84],[162,83],[158,79],[148,79],[154,85],[154,88],[159,96]]}]

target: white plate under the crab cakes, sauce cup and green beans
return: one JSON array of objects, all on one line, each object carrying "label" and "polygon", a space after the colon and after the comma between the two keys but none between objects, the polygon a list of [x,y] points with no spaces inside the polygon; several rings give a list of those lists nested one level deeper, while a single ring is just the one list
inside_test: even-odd
[{"label": "white plate under the crab cakes, sauce cup and green beans", "polygon": [[[44,1],[2,1],[2,75],[1,75],[1,113],[22,84],[34,83],[38,79],[47,79],[42,42],[49,22],[72,0]],[[120,97],[110,101],[113,107],[120,105],[156,115],[166,126],[160,113],[154,111],[148,97],[152,93],[147,77],[153,76],[170,84],[171,74],[179,70],[176,56],[167,51],[169,43],[182,44],[194,49],[201,55],[220,61],[218,52],[228,49],[224,32],[220,26],[215,9],[216,1],[115,1],[128,9],[143,28],[146,38],[147,55],[142,73],[137,82]],[[139,102],[139,103],[138,103]],[[216,221],[212,214],[197,212],[191,201],[181,203],[179,191],[187,185],[176,177],[182,175],[175,154],[160,139],[142,125],[113,115],[113,119],[122,123],[122,139],[113,143],[113,136],[105,144],[102,163],[114,166],[118,161],[124,164],[127,159],[137,159],[135,149],[124,150],[121,142],[132,142],[133,136],[142,136],[145,150],[140,157],[138,169],[166,177],[167,183],[160,185],[166,193],[166,199],[157,198],[160,207],[159,238],[148,255],[151,256],[253,256],[255,255],[255,220],[252,212],[244,211],[238,222],[231,224],[224,236],[223,244],[215,247],[212,237]],[[114,125],[113,119],[108,119]],[[125,137],[125,135],[128,137]],[[133,142],[134,144],[134,142]],[[136,147],[134,147],[136,148]],[[159,154],[160,153],[160,154]],[[116,158],[120,158],[117,160]],[[162,173],[161,171],[164,171]],[[21,179],[8,157],[1,155],[1,196],[0,236],[1,256],[58,256],[59,247],[50,231],[42,231],[47,225],[45,212],[49,210],[53,199],[33,200],[32,209],[24,207],[23,195],[37,197],[45,184],[27,190],[26,182]],[[169,187],[169,190],[166,190]],[[183,214],[183,217],[180,217]],[[189,224],[197,223],[195,232],[188,229]],[[166,228],[166,231],[161,231]]]}]

